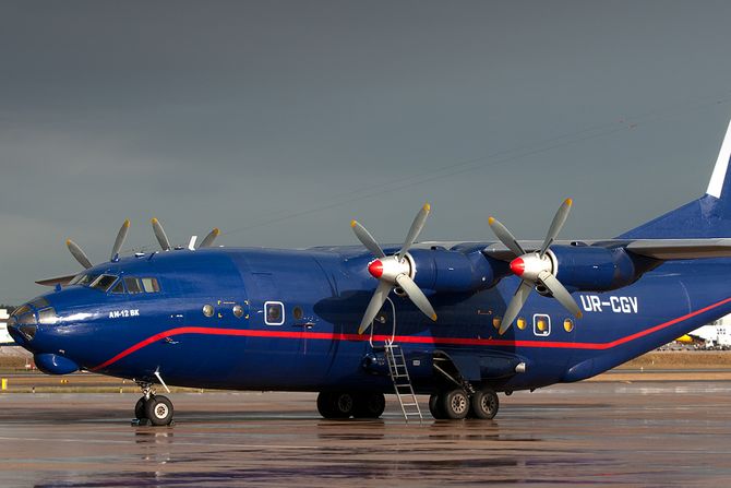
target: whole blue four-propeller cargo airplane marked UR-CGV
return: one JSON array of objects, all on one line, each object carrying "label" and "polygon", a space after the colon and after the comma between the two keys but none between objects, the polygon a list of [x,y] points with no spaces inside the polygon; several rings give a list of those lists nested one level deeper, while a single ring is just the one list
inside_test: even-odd
[{"label": "whole blue four-propeller cargo airplane marked UR-CGV", "polygon": [[498,241],[417,243],[424,205],[402,246],[353,221],[362,246],[213,247],[214,229],[173,248],[153,219],[161,251],[121,258],[125,222],[108,262],[69,240],[85,270],[39,282],[53,291],[9,331],[47,373],[133,379],[153,425],[173,412],[158,384],[312,391],[326,418],[376,418],[406,373],[435,418],[490,419],[499,392],[590,378],[731,312],[730,156],[731,124],[704,197],[606,240],[556,240],[571,200],[536,242],[490,217]]}]

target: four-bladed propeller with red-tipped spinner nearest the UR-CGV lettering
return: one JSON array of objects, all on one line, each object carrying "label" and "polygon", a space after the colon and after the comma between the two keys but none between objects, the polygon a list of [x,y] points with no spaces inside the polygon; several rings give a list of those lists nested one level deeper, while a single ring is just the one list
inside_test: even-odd
[{"label": "four-bladed propeller with red-tipped spinner nearest the UR-CGV lettering", "polygon": [[513,299],[507,305],[505,316],[500,323],[499,332],[501,335],[510,329],[515,318],[520,313],[520,309],[528,299],[530,291],[538,285],[544,286],[551,295],[553,295],[553,298],[559,300],[559,302],[577,319],[582,318],[582,311],[578,308],[578,303],[576,303],[576,300],[574,300],[574,297],[571,296],[566,287],[555,277],[553,261],[547,255],[549,248],[555,241],[555,238],[559,236],[561,228],[568,217],[571,205],[571,199],[564,200],[561,204],[553,216],[553,222],[551,222],[546,239],[543,239],[543,243],[537,252],[526,252],[515,237],[513,237],[513,234],[511,234],[503,224],[494,217],[488,219],[490,228],[498,239],[500,239],[500,241],[515,254],[515,259],[511,261],[511,271],[523,279],[518,289],[515,290]]}]

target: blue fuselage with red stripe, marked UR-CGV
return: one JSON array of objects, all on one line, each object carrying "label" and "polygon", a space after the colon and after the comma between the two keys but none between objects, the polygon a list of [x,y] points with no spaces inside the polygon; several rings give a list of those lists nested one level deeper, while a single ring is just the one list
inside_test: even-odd
[{"label": "blue fuselage with red stripe, marked UR-CGV", "polygon": [[436,388],[435,355],[448,357],[468,381],[513,391],[589,378],[731,312],[731,289],[722,285],[731,260],[669,261],[618,290],[575,293],[580,319],[532,294],[501,336],[500,317],[518,286],[505,276],[471,293],[427,289],[435,323],[392,293],[393,309],[386,303],[361,335],[358,322],[375,287],[371,259],[362,248],[125,258],[85,273],[118,283],[156,278],[158,289],[71,285],[44,297],[56,319],[36,323],[32,338],[15,336],[50,358],[49,372],[68,372],[65,359],[120,378],[154,381],[158,372],[182,386],[381,392],[393,383],[379,346],[393,338],[418,392]]}]

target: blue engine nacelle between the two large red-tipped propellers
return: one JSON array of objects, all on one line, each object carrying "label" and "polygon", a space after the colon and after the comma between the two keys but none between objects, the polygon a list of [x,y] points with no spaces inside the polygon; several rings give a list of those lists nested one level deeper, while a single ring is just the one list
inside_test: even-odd
[{"label": "blue engine nacelle between the two large red-tipped propellers", "polygon": [[464,253],[447,249],[412,249],[416,266],[414,281],[420,288],[434,291],[477,291],[495,284],[491,258],[481,252]]}]

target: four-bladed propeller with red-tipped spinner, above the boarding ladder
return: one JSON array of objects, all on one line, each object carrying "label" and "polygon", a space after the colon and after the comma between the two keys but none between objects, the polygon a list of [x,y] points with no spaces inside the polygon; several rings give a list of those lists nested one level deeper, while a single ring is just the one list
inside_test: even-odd
[{"label": "four-bladed propeller with red-tipped spinner, above the boarding ladder", "polygon": [[411,278],[411,264],[409,264],[409,260],[406,258],[406,253],[419,237],[430,210],[431,206],[429,203],[421,207],[417,216],[414,218],[414,223],[406,235],[404,245],[398,252],[393,255],[386,255],[385,252],[383,252],[383,249],[381,249],[381,246],[373,239],[373,236],[371,236],[366,227],[360,225],[358,221],[352,221],[350,223],[350,227],[352,227],[352,231],[356,234],[358,240],[360,240],[360,242],[375,255],[375,260],[371,261],[368,265],[368,272],[379,281],[379,286],[375,288],[375,293],[373,293],[373,297],[366,308],[363,319],[360,321],[360,326],[358,328],[359,334],[364,333],[368,331],[368,328],[371,326],[373,319],[375,319],[379,310],[383,307],[383,303],[386,301],[386,298],[394,286],[400,287],[406,293],[406,296],[409,297],[414,305],[416,305],[424,316],[429,317],[431,320],[436,320],[434,308],[431,306],[423,291],[421,291],[419,286],[414,283],[414,279]]}]

